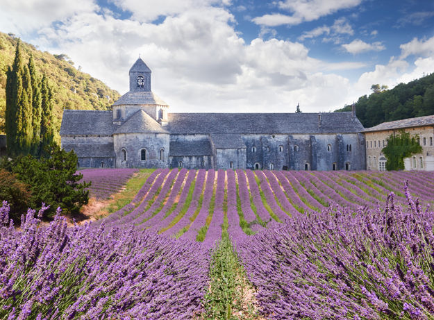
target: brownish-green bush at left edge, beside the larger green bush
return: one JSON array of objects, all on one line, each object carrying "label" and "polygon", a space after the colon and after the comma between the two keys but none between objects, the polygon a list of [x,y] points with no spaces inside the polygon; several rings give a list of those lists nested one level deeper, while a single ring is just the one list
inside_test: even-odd
[{"label": "brownish-green bush at left edge, beside the larger green bush", "polygon": [[0,169],[0,199],[10,204],[10,218],[19,221],[21,214],[26,212],[30,205],[30,186],[20,182],[10,172]]}]

